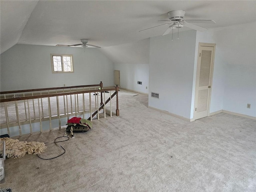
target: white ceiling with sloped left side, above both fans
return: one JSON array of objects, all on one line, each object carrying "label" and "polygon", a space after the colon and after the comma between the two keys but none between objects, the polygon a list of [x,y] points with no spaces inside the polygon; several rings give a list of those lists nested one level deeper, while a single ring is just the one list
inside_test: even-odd
[{"label": "white ceiling with sloped left side, above both fans", "polygon": [[[256,22],[256,1],[182,0],[1,0],[1,53],[15,44],[55,46],[88,44],[109,47],[162,35],[171,10],[185,10],[185,19],[214,20],[205,28]],[[189,30],[184,27],[182,30]]]}]

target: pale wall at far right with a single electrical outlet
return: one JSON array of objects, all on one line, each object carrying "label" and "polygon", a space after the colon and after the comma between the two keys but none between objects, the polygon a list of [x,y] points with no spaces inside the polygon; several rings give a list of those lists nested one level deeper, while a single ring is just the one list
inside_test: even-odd
[{"label": "pale wall at far right with a single electrical outlet", "polygon": [[223,58],[222,109],[256,117],[256,22],[210,32]]}]

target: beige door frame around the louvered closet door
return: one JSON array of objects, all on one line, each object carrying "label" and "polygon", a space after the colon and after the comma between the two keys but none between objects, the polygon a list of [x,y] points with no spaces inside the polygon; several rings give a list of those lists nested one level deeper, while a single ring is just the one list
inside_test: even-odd
[{"label": "beige door frame around the louvered closet door", "polygon": [[199,82],[199,75],[200,75],[200,70],[199,70],[199,65],[201,65],[200,61],[200,47],[213,47],[213,56],[212,56],[212,66],[211,66],[211,78],[210,78],[210,92],[209,92],[209,100],[208,100],[208,111],[207,111],[207,116],[210,114],[210,104],[211,104],[211,96],[212,96],[212,78],[213,78],[213,70],[214,70],[214,59],[215,59],[215,48],[216,44],[215,43],[202,43],[200,42],[198,45],[198,56],[197,56],[197,66],[196,66],[196,84],[195,84],[195,99],[194,99],[194,111],[193,111],[193,121],[195,119],[195,112],[196,112],[196,107],[197,107],[197,97],[198,97],[198,88],[197,84]]}]

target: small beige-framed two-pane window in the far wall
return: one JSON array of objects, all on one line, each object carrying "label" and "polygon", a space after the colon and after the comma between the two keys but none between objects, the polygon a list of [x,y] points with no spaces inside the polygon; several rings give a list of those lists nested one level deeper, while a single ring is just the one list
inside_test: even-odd
[{"label": "small beige-framed two-pane window in the far wall", "polygon": [[51,54],[52,73],[74,72],[73,56],[64,54]]}]

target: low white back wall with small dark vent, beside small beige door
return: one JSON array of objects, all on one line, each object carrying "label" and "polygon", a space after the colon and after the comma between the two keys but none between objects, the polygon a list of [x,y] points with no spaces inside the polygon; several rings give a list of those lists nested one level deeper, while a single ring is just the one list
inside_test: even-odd
[{"label": "low white back wall with small dark vent, beside small beige door", "polygon": [[[115,70],[120,70],[120,86],[148,94],[148,64],[114,64]],[[138,84],[142,82],[142,85]]]}]

